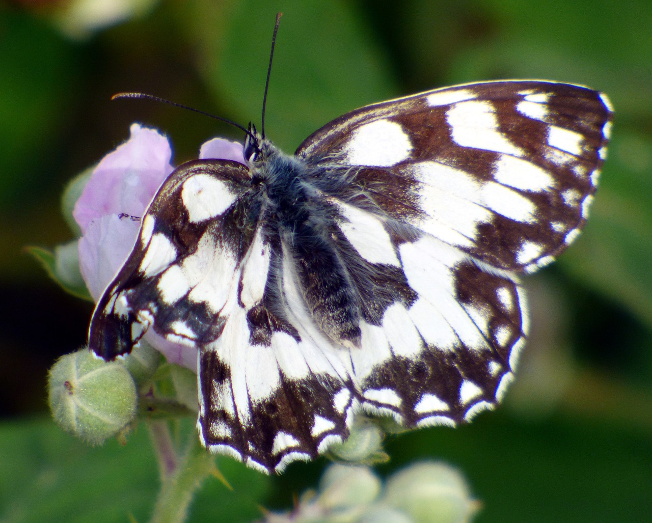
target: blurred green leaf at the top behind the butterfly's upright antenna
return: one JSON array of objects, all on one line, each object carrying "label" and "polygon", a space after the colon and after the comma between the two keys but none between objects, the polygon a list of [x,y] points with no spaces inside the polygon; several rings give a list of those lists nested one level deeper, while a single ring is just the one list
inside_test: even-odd
[{"label": "blurred green leaf at the top behind the butterfly's upright antenna", "polygon": [[[279,6],[233,4],[222,32],[202,33],[209,88],[241,123],[259,126],[272,29]],[[383,53],[351,3],[293,3],[282,18],[265,130],[293,152],[309,134],[359,106],[396,95]],[[213,40],[209,40],[213,38]]]}]

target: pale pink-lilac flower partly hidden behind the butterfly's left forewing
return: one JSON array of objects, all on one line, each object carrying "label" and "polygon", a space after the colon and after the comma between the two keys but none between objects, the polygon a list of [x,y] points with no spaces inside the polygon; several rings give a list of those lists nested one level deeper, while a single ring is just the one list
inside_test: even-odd
[{"label": "pale pink-lilac flower partly hidden behind the butterfly's left forewing", "polygon": [[[100,160],[72,213],[82,229],[80,270],[95,301],[125,263],[140,230],[140,218],[174,169],[168,138],[136,123],[130,133],[127,142]],[[244,163],[243,146],[214,138],[201,146],[200,158]],[[171,343],[153,329],[145,339],[171,363],[196,370],[194,348]]]}]

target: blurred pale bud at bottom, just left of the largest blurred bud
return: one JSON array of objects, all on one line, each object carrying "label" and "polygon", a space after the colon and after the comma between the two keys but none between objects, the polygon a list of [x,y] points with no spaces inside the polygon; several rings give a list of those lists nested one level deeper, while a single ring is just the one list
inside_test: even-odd
[{"label": "blurred pale bud at bottom, just left of the largest blurred bud", "polygon": [[346,509],[372,503],[380,489],[380,480],[369,468],[333,464],[321,477],[317,501],[325,509]]}]

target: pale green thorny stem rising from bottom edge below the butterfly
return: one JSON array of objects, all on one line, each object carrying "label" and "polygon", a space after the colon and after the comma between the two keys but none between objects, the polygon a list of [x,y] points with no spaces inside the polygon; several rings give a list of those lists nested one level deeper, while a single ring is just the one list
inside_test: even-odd
[{"label": "pale green thorny stem rising from bottom edge below the butterfly", "polygon": [[213,471],[215,456],[201,447],[196,434],[191,434],[176,470],[162,481],[151,523],[183,523],[196,490]]}]

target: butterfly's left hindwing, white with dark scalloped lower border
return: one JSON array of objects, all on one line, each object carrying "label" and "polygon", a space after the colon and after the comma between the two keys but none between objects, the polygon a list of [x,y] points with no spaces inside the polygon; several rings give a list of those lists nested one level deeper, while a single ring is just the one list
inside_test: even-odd
[{"label": "butterfly's left hindwing, white with dark scalloped lower border", "polygon": [[342,441],[355,403],[346,351],[311,328],[280,246],[258,228],[222,335],[200,349],[201,440],[263,471]]}]

